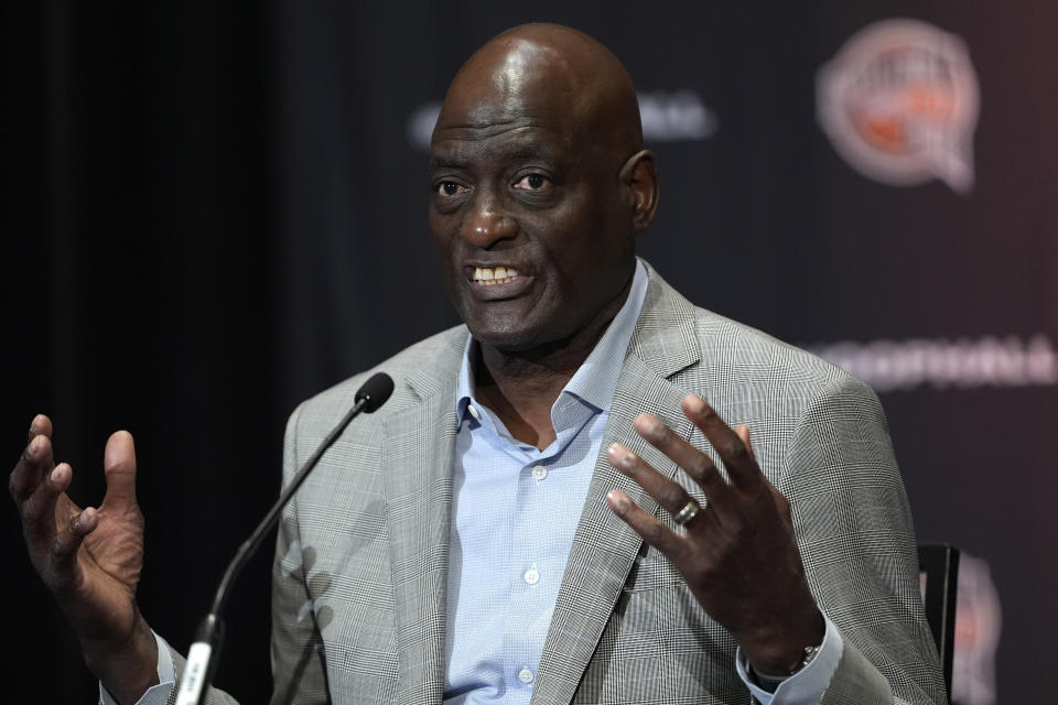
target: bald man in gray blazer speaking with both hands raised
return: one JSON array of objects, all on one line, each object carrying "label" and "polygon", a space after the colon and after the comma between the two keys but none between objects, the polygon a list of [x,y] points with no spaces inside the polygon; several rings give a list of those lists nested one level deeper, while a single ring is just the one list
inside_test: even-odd
[{"label": "bald man in gray blazer speaking with both hands raised", "polygon": [[[636,259],[658,187],[617,59],[568,28],[500,34],[454,78],[431,167],[465,327],[380,366],[392,399],[285,510],[276,701],[942,702],[876,398]],[[287,480],[361,380],[291,416]],[[164,699],[182,660],[134,601],[131,436],[79,511],[50,435],[36,417],[11,477],[33,563],[109,694]]]}]

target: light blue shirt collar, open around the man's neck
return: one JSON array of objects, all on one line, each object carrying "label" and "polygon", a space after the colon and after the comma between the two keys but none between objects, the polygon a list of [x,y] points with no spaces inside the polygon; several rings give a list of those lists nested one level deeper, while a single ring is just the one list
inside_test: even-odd
[{"label": "light blue shirt collar, open around the man's neck", "polygon": [[[598,411],[609,409],[614,392],[617,390],[617,379],[624,364],[625,351],[636,329],[643,302],[647,296],[647,269],[643,261],[636,259],[636,272],[631,280],[631,288],[625,304],[606,327],[603,337],[595,344],[587,359],[573,375],[572,379],[562,388],[562,394],[572,394],[582,399]],[[456,387],[456,413],[462,421],[466,414],[474,393],[474,375],[471,368],[473,346],[477,345],[474,336],[468,336],[463,349],[463,362],[460,366],[460,381]]]}]

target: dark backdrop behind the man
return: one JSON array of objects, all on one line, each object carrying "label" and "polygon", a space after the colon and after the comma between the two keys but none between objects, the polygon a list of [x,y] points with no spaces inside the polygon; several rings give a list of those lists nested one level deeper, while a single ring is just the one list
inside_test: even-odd
[{"label": "dark backdrop behind the man", "polygon": [[[95,502],[107,435],[133,432],[140,601],[174,646],[277,495],[296,401],[455,321],[409,121],[487,37],[543,19],[613,47],[650,111],[662,198],[643,254],[697,303],[875,384],[920,539],[981,560],[965,595],[998,594],[1001,609],[982,597],[962,612],[963,652],[985,681],[995,660],[998,702],[1046,702],[1058,657],[1045,607],[1058,529],[1049,0],[3,12],[14,159],[0,437],[13,462],[32,415],[52,414],[74,495]],[[981,105],[971,188],[882,183],[820,126],[820,67],[890,18],[965,42]],[[8,507],[10,699],[88,702],[93,681]],[[268,563],[236,587],[216,679],[247,703],[268,692]],[[962,692],[991,702],[987,682]]]}]

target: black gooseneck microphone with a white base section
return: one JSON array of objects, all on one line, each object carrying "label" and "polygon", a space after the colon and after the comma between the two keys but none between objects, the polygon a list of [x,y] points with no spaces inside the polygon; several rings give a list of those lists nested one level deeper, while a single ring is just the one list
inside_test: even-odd
[{"label": "black gooseneck microphone with a white base section", "polygon": [[342,432],[345,431],[349,422],[359,415],[361,411],[366,411],[367,413],[377,411],[379,406],[386,403],[386,400],[389,399],[391,393],[393,393],[393,378],[386,372],[376,372],[370,379],[364,382],[354,397],[356,403],[353,404],[353,408],[346,412],[342,421],[338,422],[338,425],[331,430],[331,433],[323,440],[320,447],[313,452],[312,457],[310,457],[301,469],[298,470],[298,474],[294,475],[294,478],[279,496],[276,505],[273,505],[268,514],[264,516],[264,519],[258,524],[250,538],[239,546],[231,563],[228,564],[228,570],[224,573],[219,587],[217,587],[217,594],[213,598],[213,608],[209,610],[209,614],[206,615],[205,619],[202,620],[202,623],[198,625],[198,631],[195,633],[195,643],[191,644],[191,650],[187,652],[187,665],[184,669],[184,675],[180,682],[180,692],[176,694],[176,705],[198,705],[198,703],[202,702],[203,695],[205,695],[208,690],[209,683],[213,681],[217,657],[220,653],[220,646],[224,641],[224,622],[220,621],[220,612],[224,610],[225,603],[227,603],[228,599],[228,592],[239,571],[246,566],[250,556],[253,555],[260,546],[261,541],[264,540],[264,536],[279,520],[279,514],[282,512],[283,507],[290,501],[294,492],[298,491],[301,484],[305,481],[305,478],[309,477],[309,470],[315,467],[320,457],[331,447],[331,444],[335,442]]}]

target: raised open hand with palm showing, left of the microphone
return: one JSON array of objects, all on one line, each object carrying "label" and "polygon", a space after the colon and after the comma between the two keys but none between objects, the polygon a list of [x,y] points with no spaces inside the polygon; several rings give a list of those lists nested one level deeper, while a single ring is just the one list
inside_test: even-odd
[{"label": "raised open hand with palm showing, left of the microphone", "polygon": [[69,619],[88,668],[119,702],[133,703],[158,682],[158,649],[136,603],[143,514],[132,436],[118,431],[107,441],[107,491],[98,509],[84,510],[66,495],[73,468],[55,464],[51,436],[51,420],[33,419],[8,485],[30,560]]}]

